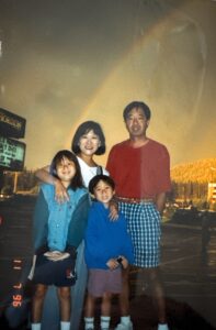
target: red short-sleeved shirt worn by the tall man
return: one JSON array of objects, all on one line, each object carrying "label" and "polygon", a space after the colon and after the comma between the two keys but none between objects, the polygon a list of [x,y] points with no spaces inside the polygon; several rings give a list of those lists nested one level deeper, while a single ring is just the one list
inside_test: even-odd
[{"label": "red short-sleeved shirt worn by the tall man", "polygon": [[154,140],[140,147],[133,147],[129,140],[114,145],[106,168],[120,197],[155,198],[171,189],[168,150]]}]

